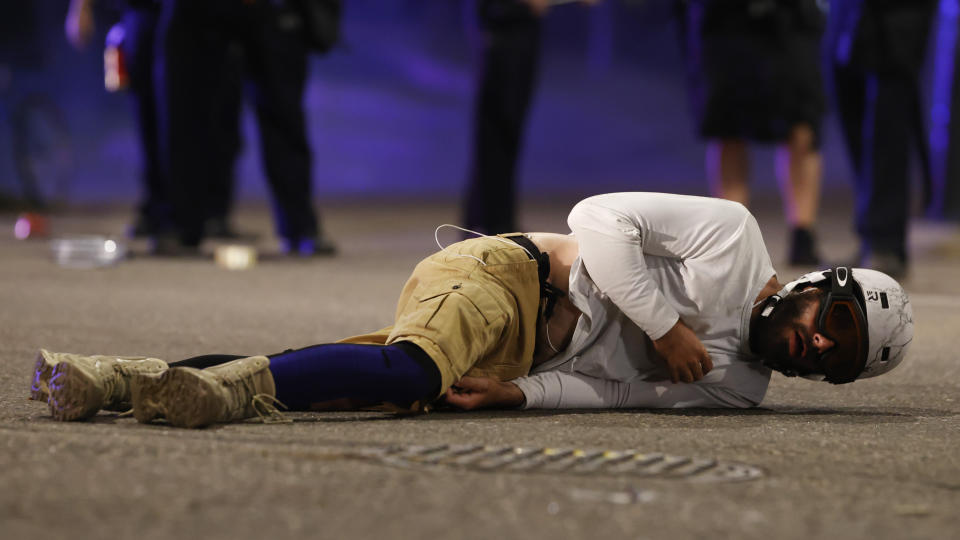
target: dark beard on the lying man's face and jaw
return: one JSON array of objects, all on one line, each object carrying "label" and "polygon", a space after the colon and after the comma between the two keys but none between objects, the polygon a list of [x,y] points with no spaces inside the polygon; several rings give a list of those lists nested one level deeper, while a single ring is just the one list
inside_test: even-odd
[{"label": "dark beard on the lying man's face and jaw", "polygon": [[799,333],[802,340],[809,340],[807,330],[798,321],[817,299],[816,294],[791,291],[780,300],[769,317],[757,319],[750,336],[751,348],[763,358],[767,367],[787,375],[806,375],[809,370],[801,366],[816,365],[816,348],[808,345],[803,358],[794,359],[790,355],[790,341],[794,332]]}]

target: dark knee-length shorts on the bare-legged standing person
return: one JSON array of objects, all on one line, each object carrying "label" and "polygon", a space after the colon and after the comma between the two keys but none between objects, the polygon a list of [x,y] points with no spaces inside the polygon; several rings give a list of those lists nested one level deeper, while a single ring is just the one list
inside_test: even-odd
[{"label": "dark knee-length shorts on the bare-legged standing person", "polygon": [[819,144],[823,15],[814,0],[759,12],[757,5],[765,3],[692,1],[682,15],[697,130],[707,139],[776,143],[805,124]]}]

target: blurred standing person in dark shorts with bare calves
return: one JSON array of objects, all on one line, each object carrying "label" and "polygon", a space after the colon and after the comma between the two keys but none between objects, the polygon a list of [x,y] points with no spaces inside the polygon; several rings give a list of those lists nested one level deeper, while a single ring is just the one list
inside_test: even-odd
[{"label": "blurred standing person in dark shorts with bare calves", "polygon": [[777,179],[791,227],[787,260],[817,265],[820,72],[817,0],[680,0],[681,40],[711,193],[748,205],[748,141],[777,145]]}]

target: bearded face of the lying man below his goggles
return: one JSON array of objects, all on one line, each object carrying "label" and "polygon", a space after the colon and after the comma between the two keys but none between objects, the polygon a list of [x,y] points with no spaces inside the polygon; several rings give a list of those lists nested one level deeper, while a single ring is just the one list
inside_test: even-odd
[{"label": "bearded face of the lying man below his goggles", "polygon": [[758,353],[776,366],[799,375],[823,374],[820,355],[834,346],[817,331],[817,312],[823,297],[816,288],[791,292],[757,330]]}]

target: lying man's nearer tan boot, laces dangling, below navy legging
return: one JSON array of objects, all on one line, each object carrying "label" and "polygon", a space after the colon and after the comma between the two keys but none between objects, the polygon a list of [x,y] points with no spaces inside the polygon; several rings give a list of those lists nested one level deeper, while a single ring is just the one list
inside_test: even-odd
[{"label": "lying man's nearer tan boot, laces dangling, below navy legging", "polygon": [[198,428],[253,416],[282,419],[272,403],[276,387],[270,359],[251,356],[206,369],[171,368],[142,373],[133,380],[133,416],[140,422],[159,417],[177,427]]}]

